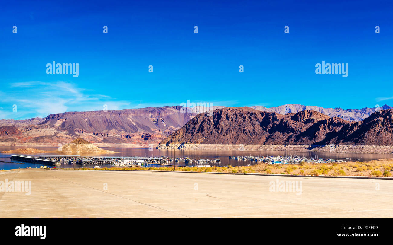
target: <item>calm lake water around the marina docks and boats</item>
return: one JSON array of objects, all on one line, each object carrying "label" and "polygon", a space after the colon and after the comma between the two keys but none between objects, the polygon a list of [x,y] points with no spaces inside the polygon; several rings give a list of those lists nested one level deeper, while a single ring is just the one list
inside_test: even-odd
[{"label": "calm lake water around the marina docks and boats", "polygon": [[[0,147],[1,151],[7,151],[18,148],[27,147]],[[32,148],[32,147],[29,147]],[[57,147],[34,147],[40,150],[53,151]],[[111,151],[116,151],[119,153],[110,154],[109,156],[168,156],[174,157],[176,152],[176,157],[187,156],[191,159],[215,159],[220,158],[221,163],[204,163],[209,165],[220,165],[220,166],[246,166],[247,164],[253,164],[249,160],[235,160],[229,159],[228,156],[300,156],[314,159],[336,159],[349,161],[369,161],[375,159],[393,158],[393,154],[353,154],[353,153],[334,153],[334,152],[296,152],[296,151],[228,151],[228,150],[158,150],[153,149],[149,151],[147,148],[105,148]],[[15,153],[17,154],[17,153]],[[34,153],[34,154],[21,154],[29,156],[43,156],[43,155],[55,155],[55,153]],[[68,154],[68,155],[80,155],[80,156],[108,156],[108,154]],[[11,160],[11,154],[0,153],[0,170],[6,169],[18,169],[18,168],[39,168],[40,164],[20,162],[16,160]],[[11,163],[10,163],[11,162]],[[203,164],[203,163],[202,163]],[[42,164],[41,164],[42,165]],[[176,163],[176,165],[184,165],[184,162]],[[94,167],[94,165],[84,165],[85,167]],[[100,165],[101,167],[112,167],[112,165]],[[48,165],[48,167],[53,167]],[[63,164],[56,166],[57,168],[80,168],[82,165],[79,164]]]}]

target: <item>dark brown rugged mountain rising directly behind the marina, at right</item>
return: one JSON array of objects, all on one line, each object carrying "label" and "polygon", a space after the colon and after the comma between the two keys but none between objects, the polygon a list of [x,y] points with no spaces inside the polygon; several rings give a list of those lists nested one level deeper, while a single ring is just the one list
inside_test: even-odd
[{"label": "dark brown rugged mountain rising directly behind the marina, at right", "polygon": [[393,109],[350,122],[318,111],[279,114],[247,107],[202,113],[160,142],[187,144],[393,145]]}]

